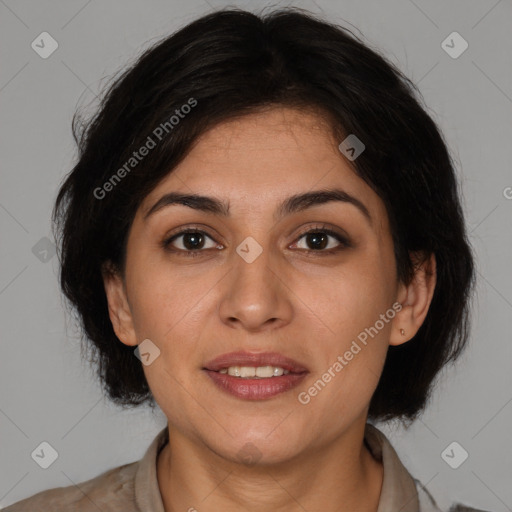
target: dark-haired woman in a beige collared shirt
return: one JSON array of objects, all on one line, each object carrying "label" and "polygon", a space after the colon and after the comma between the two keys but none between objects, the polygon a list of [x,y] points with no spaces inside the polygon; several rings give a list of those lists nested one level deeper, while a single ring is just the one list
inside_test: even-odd
[{"label": "dark-haired woman in a beige collared shirt", "polygon": [[74,123],[62,289],[109,398],[168,424],[7,512],[440,510],[374,426],[419,416],[469,330],[457,182],[415,93],[346,29],[223,10]]}]

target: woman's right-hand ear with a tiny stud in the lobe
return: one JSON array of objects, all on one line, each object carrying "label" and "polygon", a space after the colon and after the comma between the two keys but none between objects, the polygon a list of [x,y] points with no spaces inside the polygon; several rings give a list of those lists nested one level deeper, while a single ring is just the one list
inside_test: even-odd
[{"label": "woman's right-hand ear with a tiny stud in the lobe", "polygon": [[[413,338],[427,316],[436,286],[436,258],[412,253],[414,277],[409,285],[400,284],[398,302],[402,309],[393,318],[390,345],[401,345]],[[401,334],[401,329],[405,332]]]}]

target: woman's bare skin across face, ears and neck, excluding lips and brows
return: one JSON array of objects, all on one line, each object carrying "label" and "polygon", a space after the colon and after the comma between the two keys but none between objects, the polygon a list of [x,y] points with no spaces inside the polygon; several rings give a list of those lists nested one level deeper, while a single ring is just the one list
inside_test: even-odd
[{"label": "woman's bare skin across face, ears and neck, excluding lips and brows", "polygon": [[[157,463],[166,512],[377,510],[383,468],[363,444],[369,403],[388,346],[407,342],[425,319],[435,260],[419,267],[410,285],[397,281],[384,204],[339,143],[321,117],[282,107],[216,126],[145,198],[124,275],[105,274],[120,341],[135,347],[149,338],[161,351],[144,372],[168,419],[170,443]],[[357,197],[372,223],[345,202],[274,220],[285,198],[324,187]],[[172,205],[144,220],[170,191],[229,201],[230,216]],[[327,248],[315,249],[301,229],[319,223],[348,236],[351,247],[329,236]],[[210,237],[198,257],[180,255],[194,247],[183,236],[171,244],[175,253],[161,246],[191,224]],[[263,249],[252,263],[236,252],[248,236]],[[402,310],[310,403],[299,403],[298,394],[394,302]],[[228,395],[202,368],[243,349],[280,352],[310,373],[270,399]],[[251,465],[238,457],[246,443],[259,453]]]}]

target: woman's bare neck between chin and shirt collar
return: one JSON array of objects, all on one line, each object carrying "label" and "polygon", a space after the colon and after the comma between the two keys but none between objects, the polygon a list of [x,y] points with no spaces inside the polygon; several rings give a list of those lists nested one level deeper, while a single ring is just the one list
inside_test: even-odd
[{"label": "woman's bare neck between chin and shirt collar", "polygon": [[246,466],[169,425],[157,461],[165,512],[377,512],[383,467],[363,443],[362,427],[293,460]]}]

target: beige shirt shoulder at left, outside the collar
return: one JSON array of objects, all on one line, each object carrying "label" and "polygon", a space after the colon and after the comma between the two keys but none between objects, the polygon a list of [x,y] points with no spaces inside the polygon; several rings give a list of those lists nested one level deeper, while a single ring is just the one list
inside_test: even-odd
[{"label": "beige shirt shoulder at left, outside the collar", "polygon": [[138,462],[124,464],[76,485],[41,491],[2,512],[138,512],[134,479]]}]

